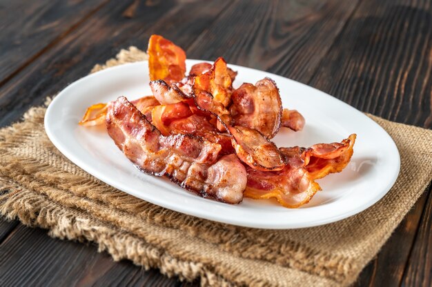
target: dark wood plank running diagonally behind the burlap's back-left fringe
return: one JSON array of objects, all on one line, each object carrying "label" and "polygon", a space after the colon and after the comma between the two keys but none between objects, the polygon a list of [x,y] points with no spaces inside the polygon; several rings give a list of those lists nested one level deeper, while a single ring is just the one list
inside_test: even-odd
[{"label": "dark wood plank running diagonally behind the burlap's back-left fringe", "polygon": [[[68,83],[84,77],[95,63],[113,57],[130,45],[146,48],[155,32],[181,46],[193,42],[230,1],[140,2],[135,17],[124,17],[133,1],[110,1],[73,33],[41,55],[0,88],[0,126],[6,126],[30,108],[43,103]],[[182,31],[179,33],[179,31]]]}]

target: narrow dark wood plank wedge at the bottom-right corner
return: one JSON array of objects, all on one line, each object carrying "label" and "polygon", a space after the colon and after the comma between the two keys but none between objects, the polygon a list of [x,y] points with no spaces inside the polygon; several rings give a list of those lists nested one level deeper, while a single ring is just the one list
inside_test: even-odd
[{"label": "narrow dark wood plank wedge at the bottom-right corner", "polygon": [[432,286],[432,190],[429,190],[402,286]]}]

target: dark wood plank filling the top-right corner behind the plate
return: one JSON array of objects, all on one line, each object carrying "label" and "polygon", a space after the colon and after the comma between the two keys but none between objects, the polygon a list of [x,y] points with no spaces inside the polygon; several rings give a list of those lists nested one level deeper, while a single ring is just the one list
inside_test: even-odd
[{"label": "dark wood plank filling the top-right corner behind the plate", "polygon": [[392,121],[432,127],[432,6],[364,1],[311,85]]}]

